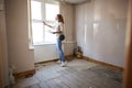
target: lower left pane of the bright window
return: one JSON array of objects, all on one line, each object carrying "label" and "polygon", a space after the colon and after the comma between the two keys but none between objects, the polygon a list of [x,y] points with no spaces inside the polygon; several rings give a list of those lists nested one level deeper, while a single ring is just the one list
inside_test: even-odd
[{"label": "lower left pane of the bright window", "polygon": [[43,24],[33,22],[32,32],[33,32],[33,43],[42,43],[43,42]]}]

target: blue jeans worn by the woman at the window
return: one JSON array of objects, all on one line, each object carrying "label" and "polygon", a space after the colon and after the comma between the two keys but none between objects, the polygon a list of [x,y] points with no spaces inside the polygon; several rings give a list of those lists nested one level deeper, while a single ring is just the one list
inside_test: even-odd
[{"label": "blue jeans worn by the woman at the window", "polygon": [[62,41],[59,38],[57,38],[56,46],[57,46],[58,54],[59,54],[59,61],[65,62],[64,53],[63,53],[63,50],[62,50]]}]

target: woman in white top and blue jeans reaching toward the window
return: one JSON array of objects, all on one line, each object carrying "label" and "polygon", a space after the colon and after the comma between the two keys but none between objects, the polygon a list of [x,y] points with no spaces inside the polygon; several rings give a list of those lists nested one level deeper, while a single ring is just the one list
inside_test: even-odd
[{"label": "woman in white top and blue jeans reaching toward the window", "polygon": [[45,23],[43,21],[43,23],[50,28],[52,28],[55,32],[52,32],[53,34],[56,34],[56,46],[57,46],[57,50],[58,50],[58,53],[59,53],[59,61],[58,63],[61,63],[61,66],[65,66],[66,63],[65,63],[65,57],[64,57],[64,53],[63,53],[63,50],[62,50],[62,40],[59,38],[59,36],[63,34],[63,29],[64,29],[64,19],[62,16],[62,14],[57,14],[56,18],[56,23],[54,26]]}]

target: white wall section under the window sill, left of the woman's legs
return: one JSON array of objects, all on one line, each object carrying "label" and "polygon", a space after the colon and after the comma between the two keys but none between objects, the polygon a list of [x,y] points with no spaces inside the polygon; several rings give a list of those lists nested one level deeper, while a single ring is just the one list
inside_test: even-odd
[{"label": "white wall section under the window sill, left of the woman's legs", "polygon": [[35,63],[58,58],[55,44],[36,45],[34,48]]}]

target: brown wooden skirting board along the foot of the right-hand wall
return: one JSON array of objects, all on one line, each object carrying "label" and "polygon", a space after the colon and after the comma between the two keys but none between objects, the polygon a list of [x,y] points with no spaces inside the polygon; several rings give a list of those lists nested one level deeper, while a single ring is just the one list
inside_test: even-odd
[{"label": "brown wooden skirting board along the foot of the right-hand wall", "polygon": [[111,64],[108,64],[108,63],[105,63],[105,62],[100,62],[100,61],[97,61],[97,59],[94,59],[94,58],[89,58],[89,57],[86,57],[86,56],[84,56],[82,58],[86,59],[86,61],[89,61],[89,62],[94,62],[96,64],[100,64],[100,65],[113,68],[113,69],[118,69],[118,70],[121,70],[121,72],[124,70],[123,67],[111,65]]}]

